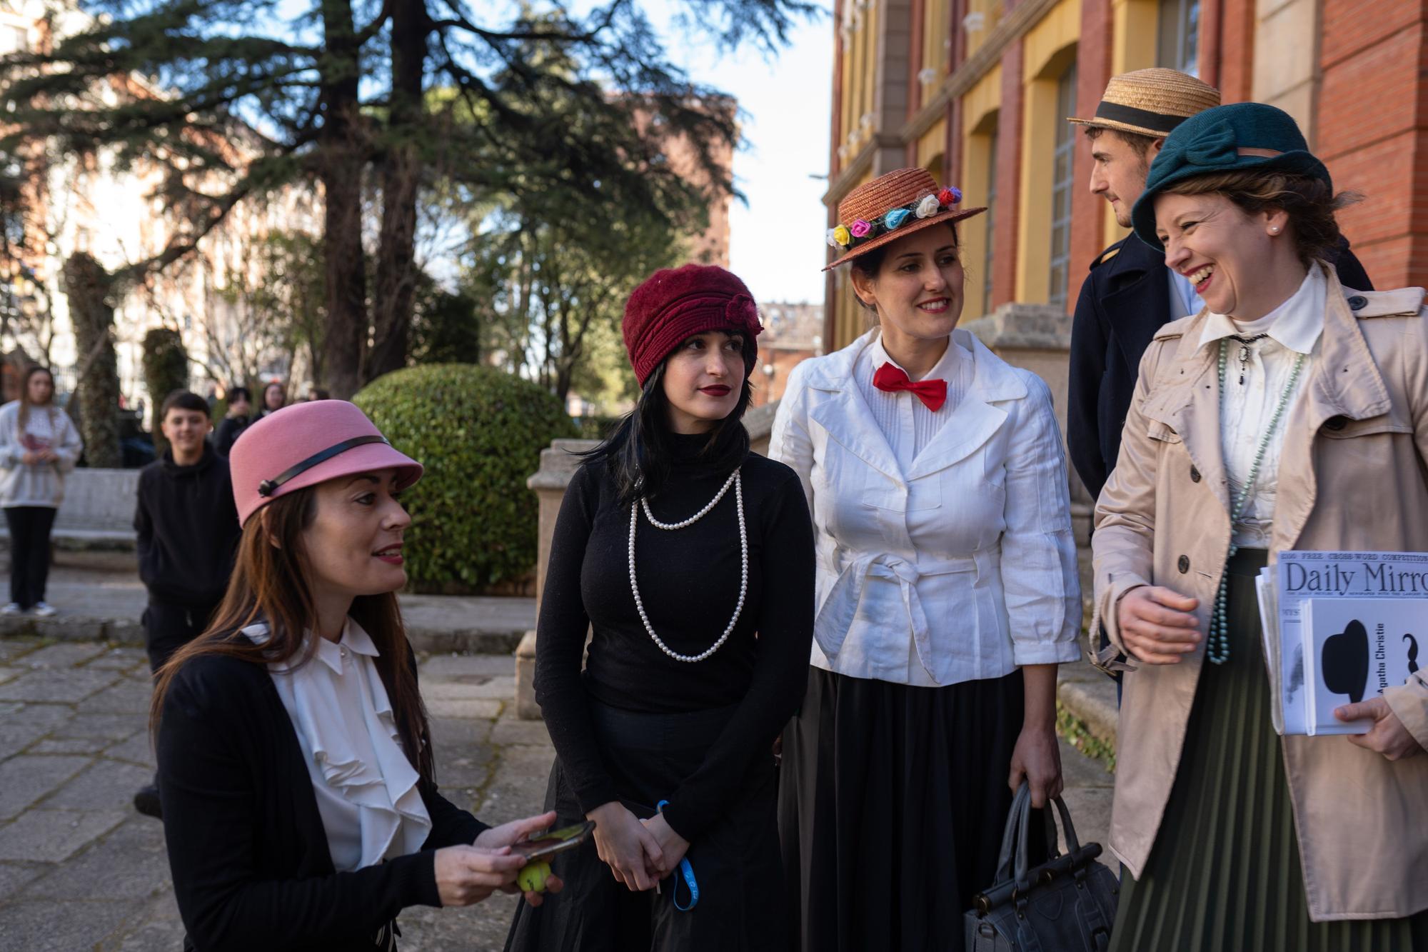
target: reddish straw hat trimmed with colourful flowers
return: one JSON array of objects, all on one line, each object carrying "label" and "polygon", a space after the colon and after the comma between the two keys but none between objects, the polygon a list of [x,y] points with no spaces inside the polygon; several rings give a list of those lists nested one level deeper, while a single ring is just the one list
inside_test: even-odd
[{"label": "reddish straw hat trimmed with colourful flowers", "polygon": [[938,189],[925,169],[898,169],[858,186],[838,203],[838,224],[828,244],[841,256],[823,270],[851,262],[888,242],[942,222],[961,222],[987,209],[957,209],[960,189]]}]

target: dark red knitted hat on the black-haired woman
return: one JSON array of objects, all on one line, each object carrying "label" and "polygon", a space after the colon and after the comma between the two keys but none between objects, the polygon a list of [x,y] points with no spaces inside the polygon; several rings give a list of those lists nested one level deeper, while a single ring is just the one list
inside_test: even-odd
[{"label": "dark red knitted hat on the black-haired woman", "polygon": [[625,350],[640,386],[660,362],[694,334],[744,333],[744,376],[754,372],[763,330],[748,286],[717,264],[685,264],[655,272],[625,302]]}]

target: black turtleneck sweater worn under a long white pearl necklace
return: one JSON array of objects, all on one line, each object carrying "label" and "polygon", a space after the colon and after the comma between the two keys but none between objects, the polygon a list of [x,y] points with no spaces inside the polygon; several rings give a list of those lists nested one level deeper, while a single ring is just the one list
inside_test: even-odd
[{"label": "black turtleneck sweater worn under a long white pearl necklace", "polygon": [[[650,507],[660,522],[703,509],[728,477],[695,459],[703,436],[674,437],[675,465]],[[604,463],[577,470],[551,540],[536,642],[536,698],[561,769],[585,812],[618,799],[590,726],[587,699],[625,710],[688,712],[734,706],[704,763],[670,793],[664,816],[694,839],[735,798],[754,758],[803,699],[814,616],[814,549],[798,476],[750,453],[741,467],[748,532],[748,592],[728,640],[701,662],[660,650],[630,592],[630,507],[617,507]],[[698,655],[724,632],[738,600],[734,487],[694,525],[664,530],[640,513],[640,598],[660,639]],[[594,629],[585,670],[585,630]]]}]

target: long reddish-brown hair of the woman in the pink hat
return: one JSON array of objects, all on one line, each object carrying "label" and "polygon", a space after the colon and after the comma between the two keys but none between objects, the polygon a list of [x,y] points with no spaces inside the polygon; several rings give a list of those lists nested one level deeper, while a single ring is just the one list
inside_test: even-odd
[{"label": "long reddish-brown hair of the woman in the pink hat", "polygon": [[[253,665],[290,663],[298,658],[306,665],[317,653],[317,639],[304,632],[316,626],[317,608],[308,582],[303,530],[317,515],[316,486],[278,496],[261,513],[248,519],[238,540],[238,557],[213,620],[203,635],[188,642],[159,669],[154,699],[149,708],[149,728],[159,732],[164,696],[178,670],[204,655],[237,658]],[[407,759],[423,779],[434,779],[431,732],[427,712],[417,690],[417,676],[407,663],[407,630],[401,622],[396,592],[360,595],[348,612],[371,636],[378,656],[373,659],[387,689],[391,709],[401,732]],[[254,645],[241,628],[266,622],[268,640]]]}]

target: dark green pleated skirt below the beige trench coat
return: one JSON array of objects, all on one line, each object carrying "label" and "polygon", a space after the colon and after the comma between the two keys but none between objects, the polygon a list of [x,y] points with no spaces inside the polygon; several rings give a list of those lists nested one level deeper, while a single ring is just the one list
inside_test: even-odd
[{"label": "dark green pleated skirt below the beige trench coat", "polygon": [[1294,810],[1269,718],[1258,549],[1230,565],[1230,660],[1205,663],[1150,862],[1122,875],[1112,952],[1409,952],[1428,912],[1309,922]]}]

